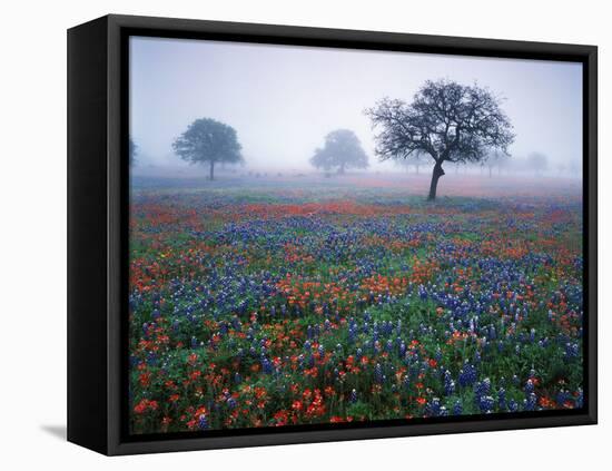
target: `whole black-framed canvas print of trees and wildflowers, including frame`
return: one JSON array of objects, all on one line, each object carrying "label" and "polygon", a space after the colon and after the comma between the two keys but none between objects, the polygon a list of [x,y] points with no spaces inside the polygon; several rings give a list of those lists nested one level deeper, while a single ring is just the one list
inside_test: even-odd
[{"label": "whole black-framed canvas print of trees and wildflowers, including frame", "polygon": [[68,439],[596,422],[596,48],[68,32]]}]

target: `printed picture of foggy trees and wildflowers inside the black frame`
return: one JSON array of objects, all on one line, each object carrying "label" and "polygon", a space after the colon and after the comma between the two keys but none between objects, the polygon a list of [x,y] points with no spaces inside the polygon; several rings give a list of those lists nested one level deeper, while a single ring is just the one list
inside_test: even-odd
[{"label": "printed picture of foggy trees and wildflowers inside the black frame", "polygon": [[129,432],[582,408],[582,86],[132,37]]}]

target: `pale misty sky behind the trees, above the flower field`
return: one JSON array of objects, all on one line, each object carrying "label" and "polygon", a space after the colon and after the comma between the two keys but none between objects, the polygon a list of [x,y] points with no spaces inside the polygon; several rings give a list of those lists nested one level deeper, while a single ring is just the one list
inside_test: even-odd
[{"label": "pale misty sky behind the trees, above the flower field", "polygon": [[378,163],[363,110],[383,97],[409,102],[440,78],[504,98],[516,135],[505,170],[525,170],[537,153],[546,157],[539,171],[580,176],[580,63],[140,37],[130,40],[134,171],[187,167],[171,144],[203,117],[237,130],[244,171],[310,169],[315,148],[337,128],[355,131],[371,171],[406,171]]}]

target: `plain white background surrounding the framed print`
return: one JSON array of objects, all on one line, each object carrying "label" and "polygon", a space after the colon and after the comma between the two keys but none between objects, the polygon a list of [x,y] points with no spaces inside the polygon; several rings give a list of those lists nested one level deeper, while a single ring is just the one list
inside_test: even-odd
[{"label": "plain white background surrounding the framed print", "polygon": [[[570,470],[609,464],[612,33],[596,0],[4,2],[0,28],[0,468]],[[600,47],[600,424],[107,459],[66,425],[66,29],[109,13]],[[609,435],[605,440],[605,435]],[[602,462],[601,464],[596,464]],[[32,468],[34,469],[34,468]],[[589,469],[589,468],[585,468]]]}]

